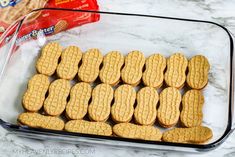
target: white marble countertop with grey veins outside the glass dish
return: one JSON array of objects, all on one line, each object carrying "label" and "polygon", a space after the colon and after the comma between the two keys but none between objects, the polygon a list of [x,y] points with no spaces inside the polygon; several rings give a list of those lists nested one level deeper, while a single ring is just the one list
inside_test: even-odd
[{"label": "white marble countertop with grey veins outside the glass dish", "polygon": [[[229,28],[235,34],[235,0],[109,0],[99,1],[103,11],[129,12],[182,18],[212,20]],[[23,66],[23,65],[17,65]],[[13,74],[12,74],[13,76]],[[20,77],[18,79],[20,81]],[[4,91],[5,92],[5,91]],[[7,91],[6,91],[7,92]],[[12,93],[13,94],[13,93]],[[7,107],[6,107],[7,108]],[[9,111],[11,108],[7,108]],[[12,111],[12,110],[11,110]],[[1,112],[8,114],[7,112]],[[0,128],[1,156],[235,156],[235,133],[218,149],[209,153],[191,154],[171,151],[144,151],[105,146],[82,146],[51,141],[22,139],[6,134]]]}]

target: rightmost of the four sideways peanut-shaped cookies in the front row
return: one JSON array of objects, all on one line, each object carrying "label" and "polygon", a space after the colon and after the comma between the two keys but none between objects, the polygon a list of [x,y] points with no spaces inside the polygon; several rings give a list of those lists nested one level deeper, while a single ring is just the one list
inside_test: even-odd
[{"label": "rightmost of the four sideways peanut-shaped cookies in the front row", "polygon": [[192,128],[174,128],[163,133],[162,140],[174,143],[205,143],[211,139],[213,133],[210,128],[197,126]]}]

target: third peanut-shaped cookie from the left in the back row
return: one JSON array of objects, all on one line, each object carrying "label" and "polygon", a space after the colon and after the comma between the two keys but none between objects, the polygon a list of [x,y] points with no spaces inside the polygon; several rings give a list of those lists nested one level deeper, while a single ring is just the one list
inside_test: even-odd
[{"label": "third peanut-shaped cookie from the left in the back row", "polygon": [[102,60],[103,56],[99,49],[89,49],[82,56],[82,65],[78,70],[78,78],[83,82],[94,82],[99,75]]}]

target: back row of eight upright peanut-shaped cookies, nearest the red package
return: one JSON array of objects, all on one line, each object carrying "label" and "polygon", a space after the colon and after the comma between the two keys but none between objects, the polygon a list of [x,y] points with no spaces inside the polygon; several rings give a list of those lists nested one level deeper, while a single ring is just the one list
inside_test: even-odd
[{"label": "back row of eight upright peanut-shaped cookies, nearest the red package", "polygon": [[99,49],[89,49],[82,54],[76,46],[62,50],[58,43],[52,42],[42,49],[36,68],[41,74],[51,76],[56,72],[59,78],[67,80],[78,74],[78,78],[87,83],[99,77],[101,82],[110,85],[116,85],[122,79],[124,83],[136,86],[142,79],[146,86],[160,88],[165,80],[168,86],[181,88],[186,81],[191,88],[202,89],[208,82],[210,65],[202,55],[188,61],[181,53],[173,54],[168,59],[160,54],[145,59],[140,51],[131,51],[125,57],[118,51],[111,51],[103,57]]}]

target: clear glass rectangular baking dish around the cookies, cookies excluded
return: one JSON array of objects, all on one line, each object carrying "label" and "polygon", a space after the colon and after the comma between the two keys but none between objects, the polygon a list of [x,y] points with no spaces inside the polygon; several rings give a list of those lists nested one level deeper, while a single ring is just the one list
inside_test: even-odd
[{"label": "clear glass rectangular baking dish around the cookies, cookies excluded", "polygon": [[[6,40],[6,34],[14,30],[12,38],[8,39],[9,42],[0,48],[0,105],[2,108],[0,124],[9,133],[27,138],[52,139],[76,144],[105,144],[142,149],[202,152],[218,147],[234,130],[234,125],[232,125],[234,112],[233,39],[225,27],[210,21],[101,11],[47,8],[34,12],[41,10],[53,13],[84,13],[90,16],[99,14],[100,20],[55,35],[38,32],[33,39],[18,42],[17,38],[23,26],[27,25],[25,19],[30,16],[29,14],[5,32],[0,39],[1,43]],[[46,20],[50,23],[55,19],[51,16]],[[35,23],[40,22],[35,20]],[[197,54],[206,56],[211,69],[208,85],[203,89],[205,97],[203,125],[212,129],[213,138],[206,144],[179,144],[17,125],[17,116],[23,112],[22,95],[27,88],[29,78],[36,73],[35,61],[40,54],[41,47],[50,41],[57,41],[64,47],[76,45],[82,51],[99,48],[103,55],[111,50],[119,50],[126,55],[131,50],[137,49],[142,51],[145,57],[156,52],[165,57],[175,52],[183,52],[187,58]]]}]

